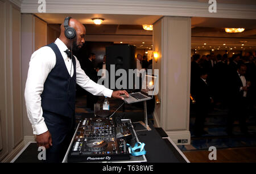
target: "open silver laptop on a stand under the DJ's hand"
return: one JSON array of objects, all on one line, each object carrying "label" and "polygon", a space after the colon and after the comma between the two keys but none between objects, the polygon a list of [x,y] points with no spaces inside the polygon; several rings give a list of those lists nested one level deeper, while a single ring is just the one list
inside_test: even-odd
[{"label": "open silver laptop on a stand under the DJ's hand", "polygon": [[156,84],[158,83],[158,75],[146,73],[142,79],[142,89],[140,92],[133,92],[126,95],[121,95],[125,103],[136,103],[140,101],[150,100],[154,97],[156,92]]}]

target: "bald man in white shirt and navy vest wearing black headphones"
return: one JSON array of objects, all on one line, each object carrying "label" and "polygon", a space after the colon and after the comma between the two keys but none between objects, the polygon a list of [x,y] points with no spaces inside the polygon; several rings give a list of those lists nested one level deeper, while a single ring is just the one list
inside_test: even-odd
[{"label": "bald man in white shirt and navy vest wearing black headphones", "polygon": [[36,50],[30,60],[25,89],[28,119],[38,146],[46,147],[47,162],[61,162],[75,126],[76,83],[93,95],[123,99],[126,91],[112,91],[94,83],[81,69],[72,50],[85,43],[85,27],[65,18],[55,43]]}]

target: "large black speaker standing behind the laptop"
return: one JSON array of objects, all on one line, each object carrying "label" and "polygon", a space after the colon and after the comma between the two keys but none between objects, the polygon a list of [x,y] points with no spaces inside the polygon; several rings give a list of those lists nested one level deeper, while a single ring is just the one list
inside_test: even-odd
[{"label": "large black speaker standing behind the laptop", "polygon": [[[129,89],[129,69],[136,69],[136,59],[135,59],[135,49],[136,46],[129,44],[118,44],[106,46],[106,70],[109,73],[109,88],[112,90],[127,90]],[[111,65],[114,65],[114,69],[110,69]],[[122,77],[122,74],[115,75],[117,70],[123,69],[127,74],[127,86],[118,88],[114,83],[117,82],[118,78]],[[114,71],[114,72],[113,72]],[[134,79],[134,78],[133,78]],[[132,82],[134,83],[134,82]],[[123,84],[123,83],[121,83]],[[130,84],[134,85],[134,84]],[[114,88],[113,88],[114,87]]]}]

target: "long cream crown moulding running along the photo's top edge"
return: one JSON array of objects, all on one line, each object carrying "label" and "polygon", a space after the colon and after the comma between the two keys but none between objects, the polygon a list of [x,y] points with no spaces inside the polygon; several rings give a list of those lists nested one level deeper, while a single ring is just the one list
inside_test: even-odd
[{"label": "long cream crown moulding running along the photo's top edge", "polygon": [[[14,0],[13,0],[14,1]],[[18,1],[18,4],[21,0]],[[164,16],[197,16],[209,18],[256,19],[255,5],[217,3],[217,12],[210,13],[208,1],[147,1],[147,0],[46,0],[47,13],[70,14],[131,14]],[[22,13],[38,13],[38,1],[23,0]]]}]

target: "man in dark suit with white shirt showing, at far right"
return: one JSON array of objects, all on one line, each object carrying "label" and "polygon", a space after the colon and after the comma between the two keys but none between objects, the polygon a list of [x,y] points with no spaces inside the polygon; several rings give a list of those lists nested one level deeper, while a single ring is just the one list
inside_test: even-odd
[{"label": "man in dark suit with white shirt showing, at far right", "polygon": [[229,112],[227,121],[227,133],[232,135],[234,117],[238,118],[240,129],[243,134],[247,134],[246,116],[247,116],[247,91],[250,82],[245,78],[246,65],[238,66],[236,72],[229,75]]}]

